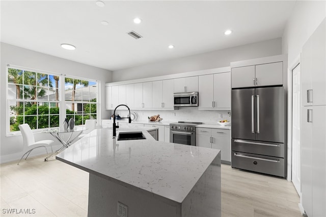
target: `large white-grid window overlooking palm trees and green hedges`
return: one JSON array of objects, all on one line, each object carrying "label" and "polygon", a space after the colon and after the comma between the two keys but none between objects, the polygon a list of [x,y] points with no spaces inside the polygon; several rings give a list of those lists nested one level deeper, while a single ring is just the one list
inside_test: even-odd
[{"label": "large white-grid window overlooking palm trees and green hedges", "polygon": [[61,126],[65,118],[75,119],[75,125],[97,118],[96,80],[16,66],[7,66],[7,74],[7,133],[19,131],[23,123],[44,129]]}]

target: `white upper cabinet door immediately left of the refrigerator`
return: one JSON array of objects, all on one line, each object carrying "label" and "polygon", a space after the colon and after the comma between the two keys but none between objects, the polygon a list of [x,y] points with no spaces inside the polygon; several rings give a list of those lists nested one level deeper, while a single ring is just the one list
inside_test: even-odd
[{"label": "white upper cabinet door immediately left of the refrigerator", "polygon": [[231,72],[214,74],[214,107],[231,109]]}]

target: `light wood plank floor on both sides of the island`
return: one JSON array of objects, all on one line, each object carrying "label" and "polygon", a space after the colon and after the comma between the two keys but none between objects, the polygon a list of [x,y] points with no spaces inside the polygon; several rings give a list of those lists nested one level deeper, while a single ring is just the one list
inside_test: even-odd
[{"label": "light wood plank floor on both sides of the island", "polygon": [[[1,216],[87,216],[88,173],[52,159],[2,164]],[[291,182],[222,165],[222,216],[301,216]],[[35,209],[7,214],[7,209]],[[201,217],[201,216],[198,216]]]}]

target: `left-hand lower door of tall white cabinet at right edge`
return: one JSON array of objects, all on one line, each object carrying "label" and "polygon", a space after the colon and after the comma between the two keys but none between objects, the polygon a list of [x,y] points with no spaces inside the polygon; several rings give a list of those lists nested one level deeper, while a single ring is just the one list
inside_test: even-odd
[{"label": "left-hand lower door of tall white cabinet at right edge", "polygon": [[312,213],[312,106],[303,106],[301,110],[301,192],[302,205],[308,216]]}]

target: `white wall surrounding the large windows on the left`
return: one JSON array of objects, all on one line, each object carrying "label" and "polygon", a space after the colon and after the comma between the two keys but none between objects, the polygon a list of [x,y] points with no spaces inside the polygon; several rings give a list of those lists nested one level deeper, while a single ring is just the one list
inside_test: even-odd
[{"label": "white wall surrounding the large windows on the left", "polygon": [[[6,43],[1,43],[1,65],[0,65],[0,162],[19,159],[22,153],[21,135],[6,137],[6,66],[7,64],[39,69],[60,74],[79,76],[89,79],[100,80],[100,103],[101,118],[110,117],[110,112],[104,109],[105,102],[105,83],[112,82],[112,72],[93,66],[65,60],[58,57],[46,55],[44,53],[24,49]],[[46,133],[35,133],[36,140],[55,140]],[[59,145],[55,141],[56,145]],[[35,150],[35,154],[43,153],[43,150]],[[32,153],[33,154],[33,153]]]}]

